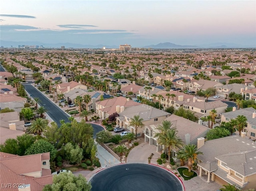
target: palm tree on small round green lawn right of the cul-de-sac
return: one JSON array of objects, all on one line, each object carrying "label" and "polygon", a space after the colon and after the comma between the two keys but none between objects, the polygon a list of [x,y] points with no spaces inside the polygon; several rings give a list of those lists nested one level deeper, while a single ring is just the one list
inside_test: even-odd
[{"label": "palm tree on small round green lawn right of the cul-de-sac", "polygon": [[188,171],[191,172],[193,164],[196,162],[197,156],[203,153],[198,151],[196,145],[188,144],[185,145],[184,148],[182,148],[182,150],[180,150],[180,154],[185,160],[188,160]]}]

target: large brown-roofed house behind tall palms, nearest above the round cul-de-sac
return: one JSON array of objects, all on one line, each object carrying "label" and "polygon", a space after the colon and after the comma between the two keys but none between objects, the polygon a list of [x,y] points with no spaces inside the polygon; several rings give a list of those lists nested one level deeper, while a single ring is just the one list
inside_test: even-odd
[{"label": "large brown-roofed house behind tall palms, nearest above the round cul-de-sac", "polygon": [[[176,116],[174,114],[165,120],[172,122],[171,128],[177,129],[177,136],[181,138],[184,144],[196,145],[197,139],[200,137],[205,137],[206,133],[210,130],[210,128],[206,126],[202,126],[196,122]],[[162,145],[157,143],[157,138],[155,137],[157,133],[160,133],[160,130],[157,129],[159,125],[161,125],[161,123],[148,125],[145,126],[144,130],[145,142],[156,146],[157,152],[162,150]],[[177,150],[175,150],[173,153],[174,158],[176,158],[176,151]]]}]

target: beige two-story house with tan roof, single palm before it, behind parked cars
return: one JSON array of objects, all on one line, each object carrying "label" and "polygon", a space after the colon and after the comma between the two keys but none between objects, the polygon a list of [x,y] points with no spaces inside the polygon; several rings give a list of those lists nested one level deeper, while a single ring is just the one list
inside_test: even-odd
[{"label": "beige two-story house with tan roof, single palm before it, behind parked cars", "polygon": [[[119,110],[119,107],[117,110]],[[145,105],[139,104],[133,107],[120,107],[119,116],[116,118],[116,126],[128,129],[130,132],[135,133],[135,127],[130,126],[130,119],[135,115],[139,115],[142,118],[142,123],[145,126],[158,124],[168,118],[171,114],[163,110]],[[137,134],[144,132],[144,128],[138,128]]]}]

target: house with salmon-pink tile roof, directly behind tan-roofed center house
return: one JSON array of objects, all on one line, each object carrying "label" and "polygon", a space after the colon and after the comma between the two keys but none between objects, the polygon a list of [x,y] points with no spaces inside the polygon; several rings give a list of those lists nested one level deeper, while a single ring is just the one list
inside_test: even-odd
[{"label": "house with salmon-pink tile roof, directly behind tan-roofed center house", "polygon": [[140,103],[120,96],[96,102],[96,113],[99,114],[100,118],[106,119],[114,112],[122,112],[121,107],[124,110],[128,107],[134,108],[137,105],[140,105]]}]

